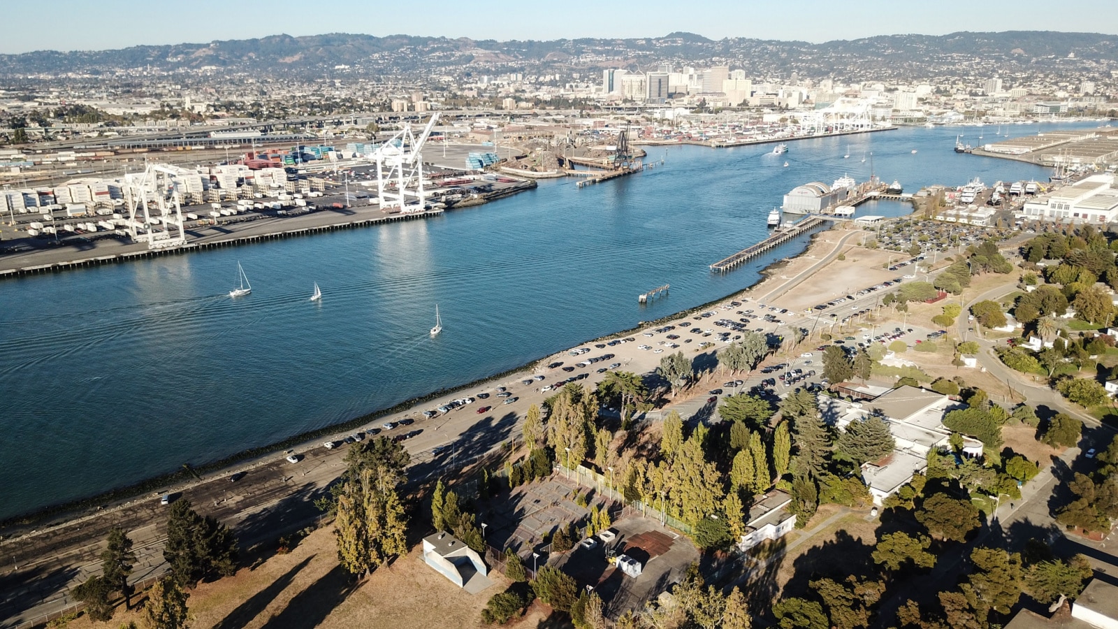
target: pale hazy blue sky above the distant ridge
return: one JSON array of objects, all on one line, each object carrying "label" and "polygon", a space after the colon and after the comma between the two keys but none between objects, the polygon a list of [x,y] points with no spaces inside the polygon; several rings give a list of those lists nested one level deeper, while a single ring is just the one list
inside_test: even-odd
[{"label": "pale hazy blue sky above the distant ridge", "polygon": [[208,43],[267,35],[429,35],[474,39],[653,37],[827,41],[959,30],[1118,34],[1098,0],[4,0],[0,54]]}]

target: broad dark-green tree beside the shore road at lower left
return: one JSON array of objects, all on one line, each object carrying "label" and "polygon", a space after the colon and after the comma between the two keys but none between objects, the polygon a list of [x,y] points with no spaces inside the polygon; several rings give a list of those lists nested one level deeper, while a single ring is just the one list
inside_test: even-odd
[{"label": "broad dark-green tree beside the shore road at lower left", "polygon": [[237,571],[237,539],[224,524],[198,515],[190,500],[181,498],[171,505],[163,558],[179,584],[193,588],[203,579]]}]

